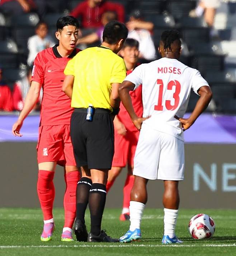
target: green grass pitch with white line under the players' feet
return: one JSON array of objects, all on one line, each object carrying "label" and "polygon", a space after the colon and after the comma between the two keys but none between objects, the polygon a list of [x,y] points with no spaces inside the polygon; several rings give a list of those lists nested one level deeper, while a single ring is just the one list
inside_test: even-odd
[{"label": "green grass pitch with white line under the players' feet", "polygon": [[[215,220],[216,233],[209,240],[192,239],[188,233],[190,218],[206,213]],[[106,209],[102,228],[113,237],[120,237],[129,228],[129,221],[119,221],[120,210]],[[82,243],[61,242],[63,210],[54,210],[56,229],[52,241],[41,242],[42,213],[40,209],[0,209],[0,255],[236,255],[236,210],[184,210],[179,211],[176,234],[183,244],[162,246],[163,210],[145,209],[140,242]],[[89,215],[86,215],[89,228]]]}]

